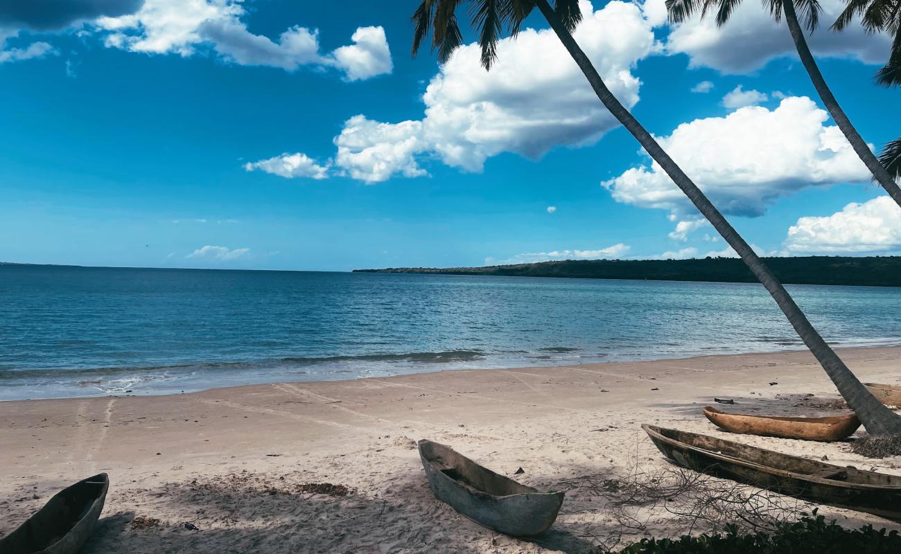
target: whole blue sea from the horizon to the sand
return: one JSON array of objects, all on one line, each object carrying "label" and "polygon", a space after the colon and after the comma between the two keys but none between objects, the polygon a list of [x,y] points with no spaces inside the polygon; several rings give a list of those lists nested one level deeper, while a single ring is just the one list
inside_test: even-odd
[{"label": "whole blue sea from the horizon to the sand", "polygon": [[[827,341],[901,343],[901,288],[789,286]],[[0,266],[0,399],[797,349],[759,285]]]}]

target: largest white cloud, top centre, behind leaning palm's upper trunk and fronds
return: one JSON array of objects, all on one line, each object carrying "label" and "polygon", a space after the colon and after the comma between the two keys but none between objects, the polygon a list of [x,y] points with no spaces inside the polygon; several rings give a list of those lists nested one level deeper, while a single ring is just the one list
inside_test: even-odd
[{"label": "largest white cloud, top centre, behind leaning palm's upper trunk and fronds", "polygon": [[[658,45],[642,8],[614,0],[585,15],[575,32],[614,94],[627,107],[638,102],[634,64]],[[417,157],[480,171],[487,158],[514,152],[540,158],[559,145],[585,146],[618,123],[587,84],[550,30],[523,30],[497,44],[497,62],[486,71],[475,43],[454,52],[423,95],[420,121],[379,123],[358,115],[334,142],[335,165],[350,177],[375,183],[396,174],[426,175]],[[549,99],[553,101],[549,101]]]}]

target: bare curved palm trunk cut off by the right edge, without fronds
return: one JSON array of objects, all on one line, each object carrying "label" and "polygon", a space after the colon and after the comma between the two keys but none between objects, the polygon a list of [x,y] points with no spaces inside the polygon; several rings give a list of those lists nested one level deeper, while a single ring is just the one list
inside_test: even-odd
[{"label": "bare curved palm trunk cut off by the right edge, without fronds", "polygon": [[794,0],[782,0],[782,9],[786,14],[788,31],[791,32],[791,38],[795,41],[797,55],[801,58],[801,63],[804,64],[807,75],[810,76],[810,80],[814,83],[816,93],[820,95],[820,99],[823,100],[826,110],[833,116],[833,120],[839,126],[839,129],[842,130],[845,138],[851,142],[851,148],[857,152],[860,160],[867,166],[869,172],[877,180],[878,184],[881,185],[882,188],[885,188],[888,195],[895,200],[899,207],[901,207],[901,188],[898,188],[895,179],[893,179],[892,176],[888,174],[886,168],[879,163],[879,160],[876,158],[876,155],[873,154],[872,150],[869,150],[869,146],[867,146],[867,143],[860,137],[860,133],[857,132],[857,129],[851,124],[851,120],[848,119],[848,116],[845,115],[842,110],[842,106],[839,105],[838,100],[833,96],[833,91],[829,90],[829,86],[826,85],[826,80],[823,78],[823,74],[820,73],[820,68],[816,66],[816,59],[814,59],[814,55],[810,52],[810,48],[807,47],[807,41],[804,38],[804,30],[801,28],[800,23],[797,22]]}]

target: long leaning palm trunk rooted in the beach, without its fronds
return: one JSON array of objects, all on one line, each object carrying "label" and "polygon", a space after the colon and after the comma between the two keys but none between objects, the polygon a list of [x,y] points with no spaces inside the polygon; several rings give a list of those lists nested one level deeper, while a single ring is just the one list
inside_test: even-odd
[{"label": "long leaning palm trunk rooted in the beach, without its fronds", "polygon": [[557,33],[566,49],[569,50],[569,55],[572,56],[572,59],[576,60],[578,67],[585,74],[597,97],[600,98],[605,107],[611,114],[614,114],[614,117],[620,123],[623,123],[623,127],[633,134],[633,137],[642,144],[642,147],[644,147],[644,150],[647,150],[651,158],[660,164],[660,167],[666,171],[669,178],[682,189],[682,192],[696,205],[698,211],[707,218],[707,221],[713,224],[714,229],[742,257],[744,263],[751,269],[751,273],[760,280],[760,283],[773,296],[776,304],[786,314],[788,321],[791,322],[792,327],[795,328],[801,340],[804,341],[807,348],[819,360],[826,374],[833,380],[839,393],[848,402],[851,410],[860,418],[860,422],[863,423],[867,431],[871,435],[878,437],[901,436],[901,416],[889,410],[886,406],[879,403],[873,395],[869,394],[869,391],[860,384],[860,380],[851,373],[851,370],[845,366],[842,359],[835,354],[833,349],[823,340],[823,337],[814,329],[814,326],[807,321],[805,314],[801,312],[801,309],[798,308],[792,297],[788,295],[785,287],[778,282],[778,279],[763,263],[763,260],[754,253],[754,250],[751,250],[748,243],[726,221],[723,214],[716,209],[714,204],[711,204],[710,200],[701,192],[701,189],[660,148],[660,144],[654,140],[651,133],[647,132],[641,123],[638,123],[638,120],[625,109],[623,104],[620,104],[619,100],[610,92],[610,89],[606,87],[604,81],[597,74],[585,52],[578,47],[578,44],[572,38],[572,35],[569,34],[566,27],[560,23],[560,19],[551,9],[551,5],[548,4],[547,0],[536,0],[535,4],[538,5],[548,23],[551,23],[551,28]]}]

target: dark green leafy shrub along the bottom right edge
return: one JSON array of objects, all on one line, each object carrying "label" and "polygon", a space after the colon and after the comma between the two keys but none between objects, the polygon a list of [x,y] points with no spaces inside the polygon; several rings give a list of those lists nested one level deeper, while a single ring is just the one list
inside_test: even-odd
[{"label": "dark green leafy shrub along the bottom right edge", "polygon": [[898,531],[876,531],[872,525],[848,530],[822,515],[805,516],[794,523],[782,523],[769,533],[740,533],[727,525],[725,533],[683,535],[678,539],[642,539],[621,550],[621,554],[898,554]]}]

